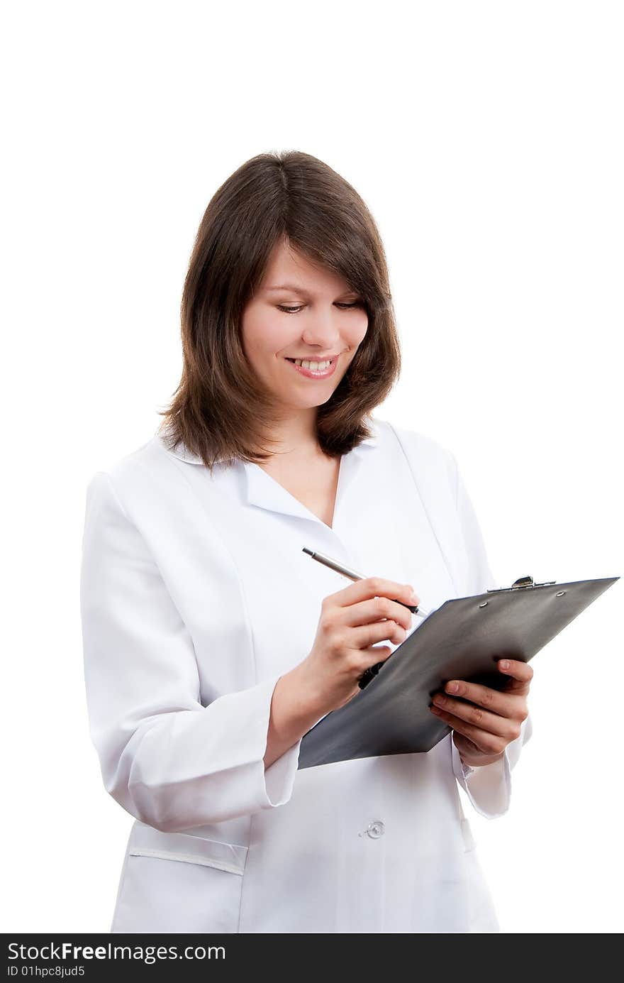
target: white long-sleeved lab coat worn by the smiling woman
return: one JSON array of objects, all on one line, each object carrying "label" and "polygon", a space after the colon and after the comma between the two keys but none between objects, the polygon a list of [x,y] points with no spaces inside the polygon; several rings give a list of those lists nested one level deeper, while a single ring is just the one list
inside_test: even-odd
[{"label": "white long-sleeved lab coat worn by the smiling woman", "polygon": [[333,528],[258,465],[210,477],[159,435],[92,477],[90,735],[135,817],[111,932],[499,931],[458,783],[482,816],[503,814],[529,719],[475,770],[448,734],[426,754],[300,771],[298,742],[264,771],[275,683],[349,585],[304,547],[413,584],[426,609],[499,586],[453,454],[370,425],[341,459]]}]

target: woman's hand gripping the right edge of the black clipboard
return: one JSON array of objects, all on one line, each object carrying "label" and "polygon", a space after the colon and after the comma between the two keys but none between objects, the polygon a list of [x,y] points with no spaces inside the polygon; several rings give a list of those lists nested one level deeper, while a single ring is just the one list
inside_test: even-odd
[{"label": "woman's hand gripping the right edge of the black clipboard", "polygon": [[509,676],[504,691],[450,679],[444,693],[434,694],[429,708],[453,728],[455,747],[464,764],[473,768],[502,758],[507,745],[520,736],[521,725],[529,716],[527,695],[533,669],[511,659],[499,660],[497,666]]}]

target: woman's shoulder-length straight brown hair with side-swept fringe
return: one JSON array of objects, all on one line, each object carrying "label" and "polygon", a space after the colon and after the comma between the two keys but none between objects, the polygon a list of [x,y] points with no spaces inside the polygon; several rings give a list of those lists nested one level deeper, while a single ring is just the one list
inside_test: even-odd
[{"label": "woman's shoulder-length straight brown hair with side-swept fringe", "polygon": [[367,204],[327,164],[298,150],[259,153],[216,191],[199,224],[181,305],[182,378],[158,433],[212,470],[264,461],[276,420],[271,393],[243,350],[243,312],[274,247],[284,241],[341,276],[369,317],[331,398],[317,409],[321,450],[338,456],[370,436],[364,418],[392,389],[399,339],[379,232]]}]

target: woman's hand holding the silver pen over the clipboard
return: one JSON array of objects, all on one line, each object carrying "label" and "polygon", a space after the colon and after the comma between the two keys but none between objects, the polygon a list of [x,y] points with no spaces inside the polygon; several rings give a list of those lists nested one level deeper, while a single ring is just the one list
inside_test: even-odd
[{"label": "woman's hand holding the silver pen over the clipboard", "polygon": [[419,603],[410,584],[382,577],[365,577],[323,598],[312,651],[298,666],[320,714],[337,710],[361,692],[363,672],[392,654],[390,646],[374,643],[387,640],[396,646],[405,641],[412,612],[403,605]]}]

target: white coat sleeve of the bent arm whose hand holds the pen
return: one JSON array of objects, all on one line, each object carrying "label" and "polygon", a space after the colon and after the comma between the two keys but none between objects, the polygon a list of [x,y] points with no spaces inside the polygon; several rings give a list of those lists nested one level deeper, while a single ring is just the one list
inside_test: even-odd
[{"label": "white coat sleeve of the bent arm whose hand holds the pen", "polygon": [[301,741],[262,760],[279,676],[201,704],[193,640],[103,471],[86,490],[81,615],[90,737],[124,809],[171,832],[289,800]]}]

